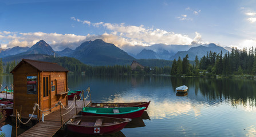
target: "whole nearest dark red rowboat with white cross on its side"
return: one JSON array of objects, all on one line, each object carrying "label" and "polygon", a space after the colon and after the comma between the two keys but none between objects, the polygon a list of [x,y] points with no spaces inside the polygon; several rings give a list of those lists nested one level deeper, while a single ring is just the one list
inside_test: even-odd
[{"label": "whole nearest dark red rowboat with white cross on its side", "polygon": [[80,134],[103,135],[122,130],[131,119],[104,116],[74,116],[66,126],[69,131]]}]

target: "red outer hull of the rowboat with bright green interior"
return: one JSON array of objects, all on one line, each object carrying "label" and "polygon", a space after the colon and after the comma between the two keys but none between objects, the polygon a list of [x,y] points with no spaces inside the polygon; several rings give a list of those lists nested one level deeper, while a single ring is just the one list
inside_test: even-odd
[{"label": "red outer hull of the rowboat with bright green interior", "polygon": [[143,112],[144,112],[145,108],[144,109],[140,109],[138,111],[135,111],[135,112],[127,112],[125,114],[103,114],[103,113],[94,113],[94,112],[86,112],[86,111],[81,111],[82,112],[82,115],[90,115],[90,116],[107,116],[107,117],[111,117],[111,118],[130,118],[130,119],[133,119],[133,118],[138,118],[140,117]]}]

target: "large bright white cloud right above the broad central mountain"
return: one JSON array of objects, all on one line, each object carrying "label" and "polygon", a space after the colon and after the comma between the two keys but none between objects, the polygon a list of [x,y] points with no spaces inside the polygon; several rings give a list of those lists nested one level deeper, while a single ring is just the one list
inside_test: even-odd
[{"label": "large bright white cloud right above the broad central mountain", "polygon": [[[187,18],[187,15],[182,15],[182,18]],[[73,19],[77,21],[76,18]],[[84,22],[78,19],[77,22]],[[89,21],[88,21],[89,22]],[[88,24],[89,25],[89,24]],[[105,27],[108,32],[104,33],[100,37],[105,39],[105,42],[115,43],[116,46],[123,45],[143,45],[149,46],[156,43],[164,43],[167,45],[190,45],[193,41],[192,38],[187,35],[176,34],[174,32],[168,32],[166,30],[154,29],[133,25],[125,25],[125,23],[91,23],[94,27]],[[117,41],[117,42],[116,42]]]}]

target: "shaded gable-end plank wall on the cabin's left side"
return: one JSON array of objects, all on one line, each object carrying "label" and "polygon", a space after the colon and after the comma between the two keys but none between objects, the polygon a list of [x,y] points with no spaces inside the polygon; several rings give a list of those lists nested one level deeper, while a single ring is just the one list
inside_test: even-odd
[{"label": "shaded gable-end plank wall on the cabin's left side", "polygon": [[33,112],[34,103],[39,102],[37,98],[38,86],[37,94],[27,94],[27,76],[37,76],[38,79],[37,69],[26,62],[13,72],[13,115],[16,115],[15,110],[18,110],[21,116],[29,117],[29,114]]}]

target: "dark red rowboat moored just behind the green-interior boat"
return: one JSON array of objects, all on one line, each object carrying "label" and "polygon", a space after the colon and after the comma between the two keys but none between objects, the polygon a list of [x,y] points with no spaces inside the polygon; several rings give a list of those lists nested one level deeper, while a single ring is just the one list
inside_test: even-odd
[{"label": "dark red rowboat moored just behind the green-interior boat", "polygon": [[131,102],[131,103],[90,103],[89,107],[145,107],[147,110],[149,102]]}]

